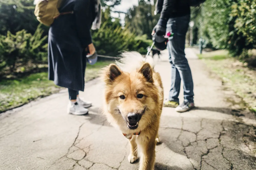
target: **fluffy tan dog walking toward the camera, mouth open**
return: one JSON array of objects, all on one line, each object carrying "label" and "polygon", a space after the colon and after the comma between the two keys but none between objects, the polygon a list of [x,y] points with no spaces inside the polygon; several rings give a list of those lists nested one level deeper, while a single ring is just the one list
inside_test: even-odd
[{"label": "fluffy tan dog walking toward the camera, mouth open", "polygon": [[[101,70],[104,82],[103,116],[130,141],[128,161],[140,157],[140,170],[153,170],[155,146],[163,107],[163,85],[151,56],[125,52]],[[138,152],[139,151],[139,152]]]}]

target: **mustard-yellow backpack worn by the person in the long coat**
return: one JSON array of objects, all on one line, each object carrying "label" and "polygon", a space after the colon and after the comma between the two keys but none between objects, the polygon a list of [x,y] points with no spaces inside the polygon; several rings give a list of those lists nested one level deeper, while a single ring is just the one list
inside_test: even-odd
[{"label": "mustard-yellow backpack worn by the person in the long coat", "polygon": [[36,19],[46,26],[50,26],[60,15],[58,8],[62,0],[38,0],[34,14]]}]

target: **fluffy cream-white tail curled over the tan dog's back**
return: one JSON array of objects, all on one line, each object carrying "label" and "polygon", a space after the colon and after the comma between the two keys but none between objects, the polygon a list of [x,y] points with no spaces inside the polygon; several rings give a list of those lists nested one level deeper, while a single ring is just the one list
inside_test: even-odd
[{"label": "fluffy cream-white tail curled over the tan dog's back", "polygon": [[116,61],[116,65],[125,72],[131,72],[140,68],[144,62],[149,63],[152,68],[155,66],[155,61],[152,56],[148,55],[145,61],[145,58],[136,51],[124,52],[121,54],[121,57],[120,60]]}]

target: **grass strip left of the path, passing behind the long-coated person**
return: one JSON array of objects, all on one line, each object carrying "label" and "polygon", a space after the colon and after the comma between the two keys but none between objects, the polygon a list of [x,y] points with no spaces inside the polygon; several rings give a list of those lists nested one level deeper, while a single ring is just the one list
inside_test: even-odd
[{"label": "grass strip left of the path, passing behind the long-coated person", "polygon": [[[87,65],[86,81],[97,77],[97,72],[113,61],[99,61]],[[22,106],[39,97],[57,93],[61,87],[48,80],[48,73],[34,73],[29,76],[0,82],[0,113]]]}]

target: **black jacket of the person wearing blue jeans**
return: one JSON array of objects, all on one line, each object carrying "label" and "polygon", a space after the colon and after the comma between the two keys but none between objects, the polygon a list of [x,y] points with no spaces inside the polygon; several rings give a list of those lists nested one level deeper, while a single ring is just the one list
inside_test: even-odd
[{"label": "black jacket of the person wearing blue jeans", "polygon": [[190,6],[187,0],[157,0],[156,13],[161,14],[160,19],[168,20],[190,15]]}]

